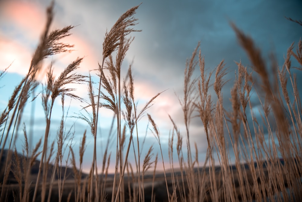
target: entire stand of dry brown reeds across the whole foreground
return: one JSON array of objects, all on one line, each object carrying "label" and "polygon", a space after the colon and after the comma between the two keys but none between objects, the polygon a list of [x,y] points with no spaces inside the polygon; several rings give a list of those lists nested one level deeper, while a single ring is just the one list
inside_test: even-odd
[{"label": "entire stand of dry brown reeds across the whole foreground", "polygon": [[[47,22],[41,35],[39,45],[34,52],[29,71],[12,93],[6,109],[0,118],[1,159],[1,196],[0,201],[299,201],[302,200],[301,183],[301,135],[302,108],[297,86],[297,76],[292,71],[291,60],[298,62],[302,70],[302,41],[294,50],[294,43],[288,48],[282,67],[271,57],[271,68],[262,58],[261,51],[253,40],[231,24],[239,44],[243,47],[251,62],[251,68],[236,63],[233,88],[230,90],[231,110],[224,108],[224,86],[229,70],[222,60],[214,70],[206,71],[205,58],[201,54],[200,44],[194,49],[186,62],[184,72],[184,94],[179,96],[182,107],[185,132],[180,131],[173,117],[169,139],[169,159],[164,159],[160,131],[150,114],[147,114],[152,125],[151,132],[159,144],[160,154],[154,158],[153,145],[141,162],[142,143],[139,142],[138,124],[145,116],[146,110],[160,92],[147,102],[142,109],[137,108],[134,98],[134,80],[131,65],[127,74],[121,75],[123,60],[134,38],[129,35],[134,31],[137,18],[134,18],[135,6],[118,18],[110,31],[105,33],[102,61],[98,64],[98,89],[95,89],[92,77],[75,73],[80,67],[82,57],[72,61],[55,79],[53,66],[47,71],[47,82],[43,90],[35,95],[42,98],[45,112],[46,129],[43,139],[30,148],[27,140],[26,126],[23,126],[23,156],[18,155],[15,141],[25,104],[34,89],[40,83],[36,80],[43,59],[61,52],[70,52],[73,45],[61,42],[70,35],[73,26],[50,31],[53,20],[53,3],[47,8]],[[292,20],[289,18],[289,20]],[[300,21],[294,21],[301,24]],[[115,58],[114,58],[115,57]],[[194,77],[199,67],[200,77]],[[5,76],[4,70],[0,77]],[[72,148],[74,132],[66,130],[65,123],[68,110],[64,106],[65,96],[83,101],[67,87],[69,84],[88,84],[89,103],[79,112],[78,118],[90,126],[94,136],[93,158],[89,174],[83,173],[83,156],[86,149],[86,132],[77,155]],[[290,95],[292,92],[292,95]],[[258,96],[261,119],[253,112],[251,96]],[[55,142],[49,146],[48,138],[51,127],[51,115],[56,98],[61,96],[62,112],[59,130]],[[96,142],[100,108],[114,113],[111,132],[102,155],[102,166],[98,168]],[[88,109],[88,108],[91,108]],[[198,146],[191,147],[190,125],[198,117],[207,139],[207,154],[203,165],[198,159]],[[198,119],[199,119],[198,118]],[[115,125],[116,124],[116,125]],[[124,125],[123,125],[124,124]],[[114,132],[116,131],[116,132]],[[135,135],[136,134],[136,135]],[[114,136],[115,135],[115,136]],[[134,135],[134,136],[133,136]],[[126,137],[129,137],[128,139]],[[8,139],[9,151],[5,152]],[[134,143],[136,138],[136,143]],[[185,144],[183,144],[185,138]],[[176,139],[176,140],[175,140]],[[111,159],[110,145],[115,142],[115,171],[113,181],[108,181],[108,168]],[[42,146],[43,145],[43,146]],[[56,145],[56,148],[55,148]],[[135,165],[128,162],[132,145]],[[185,146],[184,146],[185,145]],[[42,146],[42,148],[41,148]],[[179,172],[173,159],[176,148]],[[66,152],[67,149],[67,152]],[[11,152],[10,150],[14,151]],[[32,151],[31,151],[32,150]],[[195,152],[193,152],[195,150]],[[160,189],[156,179],[158,155],[162,158],[164,168],[164,189]],[[34,162],[40,156],[37,176],[31,174]],[[72,186],[67,183],[67,169],[63,169],[63,157],[67,158],[66,168],[73,169]],[[76,158],[79,158],[78,165]],[[53,166],[51,161],[53,160]],[[154,159],[154,160],[153,160]],[[167,164],[170,162],[171,170]],[[141,164],[142,163],[142,164]],[[142,165],[142,166],[141,166]],[[146,186],[147,171],[154,167],[150,196]],[[51,171],[50,176],[48,176]],[[126,172],[126,177],[125,177]],[[10,184],[11,173],[17,186]],[[42,175],[42,176],[41,176]],[[108,192],[108,188],[110,191]],[[159,191],[160,190],[160,191]],[[54,193],[55,192],[55,193]]]}]

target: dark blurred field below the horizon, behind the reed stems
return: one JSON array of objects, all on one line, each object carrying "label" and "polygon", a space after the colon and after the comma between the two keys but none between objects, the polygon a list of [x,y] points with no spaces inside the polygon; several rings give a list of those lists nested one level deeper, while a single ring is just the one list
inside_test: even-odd
[{"label": "dark blurred field below the horizon, behind the reed stems", "polygon": [[[7,150],[5,150],[6,154]],[[19,158],[21,158],[22,155],[19,155]],[[15,158],[12,158],[12,161],[15,161]],[[294,163],[297,163],[297,160],[292,160]],[[31,180],[32,181],[36,181],[37,179],[37,173],[38,173],[38,167],[37,165],[39,165],[40,161],[36,160],[35,165],[33,166],[31,169]],[[253,178],[253,175],[251,173],[251,169],[252,166],[253,168],[257,169],[259,166],[257,165],[256,162],[254,162],[254,164],[242,164],[241,168],[245,170],[246,173],[246,181],[243,184],[245,186],[244,189],[246,190],[253,190],[255,187],[255,184],[257,184],[258,186],[262,186],[264,185],[265,187],[265,191],[267,192],[266,194],[268,194],[269,190],[272,190],[272,184],[270,184],[270,172],[273,172],[272,169],[272,162],[267,162],[267,161],[263,161],[261,163],[261,165],[259,165],[262,169],[262,174],[264,175],[264,178],[261,178],[261,176],[259,176],[257,178],[257,180],[255,181]],[[4,158],[2,158],[1,161],[1,165],[5,165],[5,161]],[[279,159],[279,161],[275,162],[275,165],[278,166],[282,166],[284,167],[284,160],[283,159]],[[53,169],[53,165],[49,165],[49,173],[47,174],[47,181],[49,182],[51,179],[51,171]],[[205,194],[204,196],[201,198],[201,201],[213,201],[211,194],[212,190],[211,190],[211,182],[209,179],[209,174],[212,168],[210,167],[205,167],[205,168],[194,168],[194,175],[195,175],[195,179],[198,180],[198,178],[200,178],[200,180],[203,180],[204,183],[204,189],[205,189]],[[65,172],[65,167],[62,168],[63,172]],[[214,168],[215,171],[215,179],[216,179],[216,184],[219,190],[223,189],[223,174],[221,171],[221,167],[220,166],[216,166]],[[229,171],[230,171],[230,175],[232,175],[233,177],[233,184],[231,184],[230,186],[233,187],[233,194],[237,196],[237,199],[239,201],[243,201],[243,196],[241,195],[241,185],[239,182],[239,176],[238,176],[238,170],[236,169],[236,166],[230,166],[229,167]],[[232,174],[233,173],[233,174]],[[204,175],[205,177],[203,179],[201,179],[201,176]],[[282,173],[280,174],[282,175],[282,177],[284,179],[286,179],[286,173]],[[56,175],[57,176],[57,175]],[[172,177],[174,176],[174,177]],[[184,176],[184,181],[182,181],[182,176]],[[301,174],[300,174],[301,176]],[[104,176],[105,177],[105,176]],[[175,171],[174,174],[172,172],[168,172],[166,173],[166,179],[167,179],[167,184],[169,187],[169,193],[172,195],[172,193],[176,190],[176,197],[177,197],[177,201],[181,200],[182,197],[186,197],[188,198],[189,195],[189,187],[188,187],[188,181],[187,181],[187,177],[185,172],[181,172],[181,171]],[[302,177],[302,176],[301,176]],[[2,176],[3,178],[3,176]],[[99,176],[99,179],[101,178],[101,176]],[[261,180],[262,179],[262,180]],[[285,188],[285,194],[288,195],[290,201],[300,201],[302,200],[302,192],[300,190],[296,190],[296,192],[292,192],[290,193],[289,191],[289,185],[294,185],[295,183],[300,183],[302,178],[297,179],[297,181],[284,181],[284,188]],[[87,190],[87,180],[88,180],[88,174],[84,174],[82,173],[82,182],[81,182],[81,192],[83,194],[83,200],[87,201],[88,200],[88,190]],[[142,179],[141,179],[142,180]],[[106,186],[105,186],[105,200],[104,201],[111,201],[112,199],[112,190],[113,190],[113,181],[114,181],[114,174],[108,174],[107,175],[107,180],[106,180]],[[176,185],[176,189],[174,189],[173,187],[173,181],[176,181],[175,185]],[[51,196],[50,196],[50,201],[58,201],[59,200],[59,192],[58,192],[58,179],[56,177],[55,181],[53,182],[53,190],[51,192]],[[6,194],[6,201],[13,201],[13,200],[18,200],[19,198],[19,184],[18,181],[14,178],[13,172],[11,172],[9,174],[9,178],[8,178],[8,182],[7,184],[9,184],[7,187],[5,187],[4,190],[1,191],[5,191]],[[184,184],[184,188],[179,188],[179,185]],[[75,174],[73,172],[72,168],[67,168],[66,170],[66,177],[65,177],[65,184],[64,184],[64,191],[62,194],[62,201],[76,201],[75,198],[75,186],[76,186],[76,181],[75,181]],[[249,187],[249,189],[247,189],[247,187]],[[46,184],[47,189],[49,189],[49,183]],[[124,177],[124,187],[126,187],[125,189],[125,201],[133,201],[133,199],[138,197],[138,183],[137,183],[137,179],[133,179],[131,177]],[[144,200],[145,201],[151,201],[151,197],[152,197],[152,193],[155,196],[155,199],[153,198],[154,201],[169,201],[168,197],[167,197],[167,192],[166,192],[166,184],[165,184],[165,175],[163,172],[161,173],[156,173],[154,176],[152,173],[149,174],[145,174],[144,175]],[[32,200],[33,198],[33,193],[34,193],[34,188],[35,188],[35,184],[31,184],[30,188],[29,188],[29,201]],[[23,185],[22,185],[22,189],[24,189],[24,181],[23,181]],[[185,190],[185,191],[184,191]],[[41,189],[38,189],[38,193],[41,191]],[[280,190],[281,191],[281,190]],[[133,195],[135,194],[135,195]],[[251,199],[252,200],[256,200],[255,197],[255,193],[252,193],[252,191],[250,192],[251,194]],[[297,195],[300,194],[300,195]],[[284,195],[284,194],[283,194]],[[48,194],[45,195],[46,198],[48,198]],[[278,196],[278,193],[275,194],[275,196]],[[94,198],[95,196],[93,196]],[[86,198],[86,199],[84,199]],[[224,201],[224,196],[223,194],[220,196],[219,201]],[[41,201],[41,195],[37,194],[37,198],[36,201]]]}]

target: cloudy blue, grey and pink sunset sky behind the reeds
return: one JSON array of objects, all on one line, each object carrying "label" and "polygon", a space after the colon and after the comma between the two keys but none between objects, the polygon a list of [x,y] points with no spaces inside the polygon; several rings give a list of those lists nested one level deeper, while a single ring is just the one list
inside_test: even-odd
[{"label": "cloudy blue, grey and pink sunset sky behind the reeds", "polygon": [[[198,42],[201,42],[201,54],[205,57],[207,72],[213,70],[225,61],[228,67],[226,80],[230,80],[223,89],[224,107],[231,109],[229,96],[233,86],[236,62],[241,60],[244,66],[250,66],[246,53],[238,44],[236,34],[230,26],[234,23],[240,30],[251,36],[262,50],[265,59],[274,53],[279,66],[282,66],[284,55],[292,42],[297,43],[301,37],[302,26],[287,20],[285,17],[302,19],[302,1],[56,1],[54,7],[54,21],[52,29],[76,25],[71,30],[72,35],[64,42],[75,44],[72,53],[53,56],[44,61],[45,67],[53,61],[54,74],[59,73],[76,57],[85,57],[79,73],[92,75],[98,82],[95,69],[102,61],[102,43],[106,30],[110,30],[115,21],[129,8],[139,5],[135,17],[139,24],[136,29],[141,32],[132,33],[135,37],[124,59],[122,75],[126,75],[129,64],[135,86],[135,99],[138,109],[159,92],[166,90],[156,98],[154,105],[148,110],[159,127],[164,161],[169,162],[168,139],[172,130],[170,115],[185,134],[183,115],[178,97],[182,98],[185,62],[191,57]],[[28,71],[31,57],[39,42],[46,21],[46,8],[49,0],[0,0],[0,69],[4,70],[10,64],[7,74],[0,80],[0,110],[7,106],[14,86],[21,81]],[[43,73],[40,81],[43,83]],[[199,77],[197,70],[194,77]],[[302,74],[297,72],[298,81]],[[300,82],[301,83],[301,82]],[[299,85],[298,85],[299,86]],[[87,85],[77,85],[76,95],[88,100]],[[95,86],[95,92],[98,87]],[[38,90],[35,92],[38,93]],[[79,151],[80,141],[87,130],[84,171],[88,171],[92,163],[93,136],[88,124],[80,119],[72,118],[82,111],[85,103],[66,98],[66,110],[69,107],[66,129],[72,127],[74,138],[72,145],[75,153]],[[27,125],[34,108],[34,136],[33,144],[44,135],[45,116],[41,101],[27,103],[23,121]],[[67,111],[65,111],[66,114]],[[255,110],[257,113],[257,110]],[[50,139],[55,140],[56,131],[62,116],[60,98],[56,99],[51,119]],[[101,154],[110,130],[113,114],[107,109],[100,110],[100,121],[97,144],[98,165],[101,166]],[[29,127],[29,126],[28,126]],[[159,145],[148,127],[148,119],[144,117],[139,122],[140,143],[146,135],[142,156],[153,145],[154,152],[159,152]],[[149,127],[150,128],[150,127]],[[29,130],[27,128],[27,130]],[[147,131],[147,132],[146,132]],[[207,150],[204,128],[199,118],[192,121],[190,127],[191,142],[196,142],[200,161],[203,162]],[[129,136],[127,136],[129,138]],[[185,139],[185,137],[184,137]],[[115,141],[115,140],[114,140]],[[114,141],[111,148],[114,155]],[[19,132],[16,142],[18,151],[22,151],[24,138]],[[69,142],[70,144],[70,142]],[[2,145],[1,145],[2,146]],[[7,146],[6,146],[7,147]],[[67,152],[67,151],[66,151]],[[67,153],[66,153],[67,154]],[[133,161],[130,155],[130,162]],[[154,158],[154,157],[153,157]],[[114,162],[111,163],[114,168]]]}]

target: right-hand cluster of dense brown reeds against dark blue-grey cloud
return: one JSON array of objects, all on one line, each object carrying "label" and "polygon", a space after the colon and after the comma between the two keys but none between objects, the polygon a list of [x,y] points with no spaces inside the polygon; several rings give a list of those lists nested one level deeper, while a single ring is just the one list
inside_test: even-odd
[{"label": "right-hand cluster of dense brown reeds against dark blue-grey cloud", "polygon": [[[253,40],[234,24],[231,26],[250,59],[251,68],[244,67],[241,62],[236,63],[238,70],[230,90],[232,108],[227,111],[222,97],[223,86],[229,82],[225,80],[227,69],[224,61],[207,75],[201,51],[195,60],[199,44],[194,50],[185,69],[184,97],[179,100],[186,126],[186,157],[182,154],[183,136],[170,117],[174,129],[169,148],[172,153],[173,137],[177,135],[181,174],[172,176],[174,188],[169,198],[175,199],[175,192],[178,192],[177,200],[181,201],[300,201],[302,110],[291,58],[300,65],[294,68],[302,70],[302,41],[298,42],[296,51],[294,43],[291,44],[282,67],[271,57],[271,68],[267,68]],[[193,78],[197,65],[200,78]],[[213,88],[210,83],[212,77]],[[252,94],[259,98],[260,119],[253,111]],[[208,143],[202,167],[198,163],[196,145],[193,161],[189,140],[188,126],[194,111],[198,112],[204,125]],[[215,160],[218,163],[215,164]],[[209,165],[207,168],[206,164]],[[194,165],[197,166],[195,171]],[[181,181],[175,182],[178,177]]]}]

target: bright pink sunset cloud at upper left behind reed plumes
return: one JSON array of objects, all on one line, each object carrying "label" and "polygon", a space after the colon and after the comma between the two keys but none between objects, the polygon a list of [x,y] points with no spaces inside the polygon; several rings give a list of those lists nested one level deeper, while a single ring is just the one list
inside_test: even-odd
[{"label": "bright pink sunset cloud at upper left behind reed plumes", "polygon": [[[5,69],[14,61],[8,72],[25,75],[35,49],[32,44],[38,43],[45,25],[45,8],[33,2],[21,1],[3,2],[1,8],[0,16],[2,20],[0,20],[0,23],[13,27],[8,31],[0,32],[2,38],[0,40],[0,60],[3,65],[1,69]],[[52,27],[63,28],[59,24],[60,22],[54,21]],[[72,29],[71,33],[76,29]],[[92,49],[92,44],[88,44],[87,40],[79,37],[79,35],[72,34],[64,38],[62,42],[75,44],[75,47],[72,53],[59,54],[51,58],[55,61],[54,74],[59,75],[77,57],[85,57],[79,69],[80,73],[88,75],[89,70],[98,68],[97,56]],[[46,61],[46,66],[49,63],[50,60]],[[42,72],[42,75],[45,75],[45,71]],[[42,77],[40,76],[39,79],[43,80]]]}]

